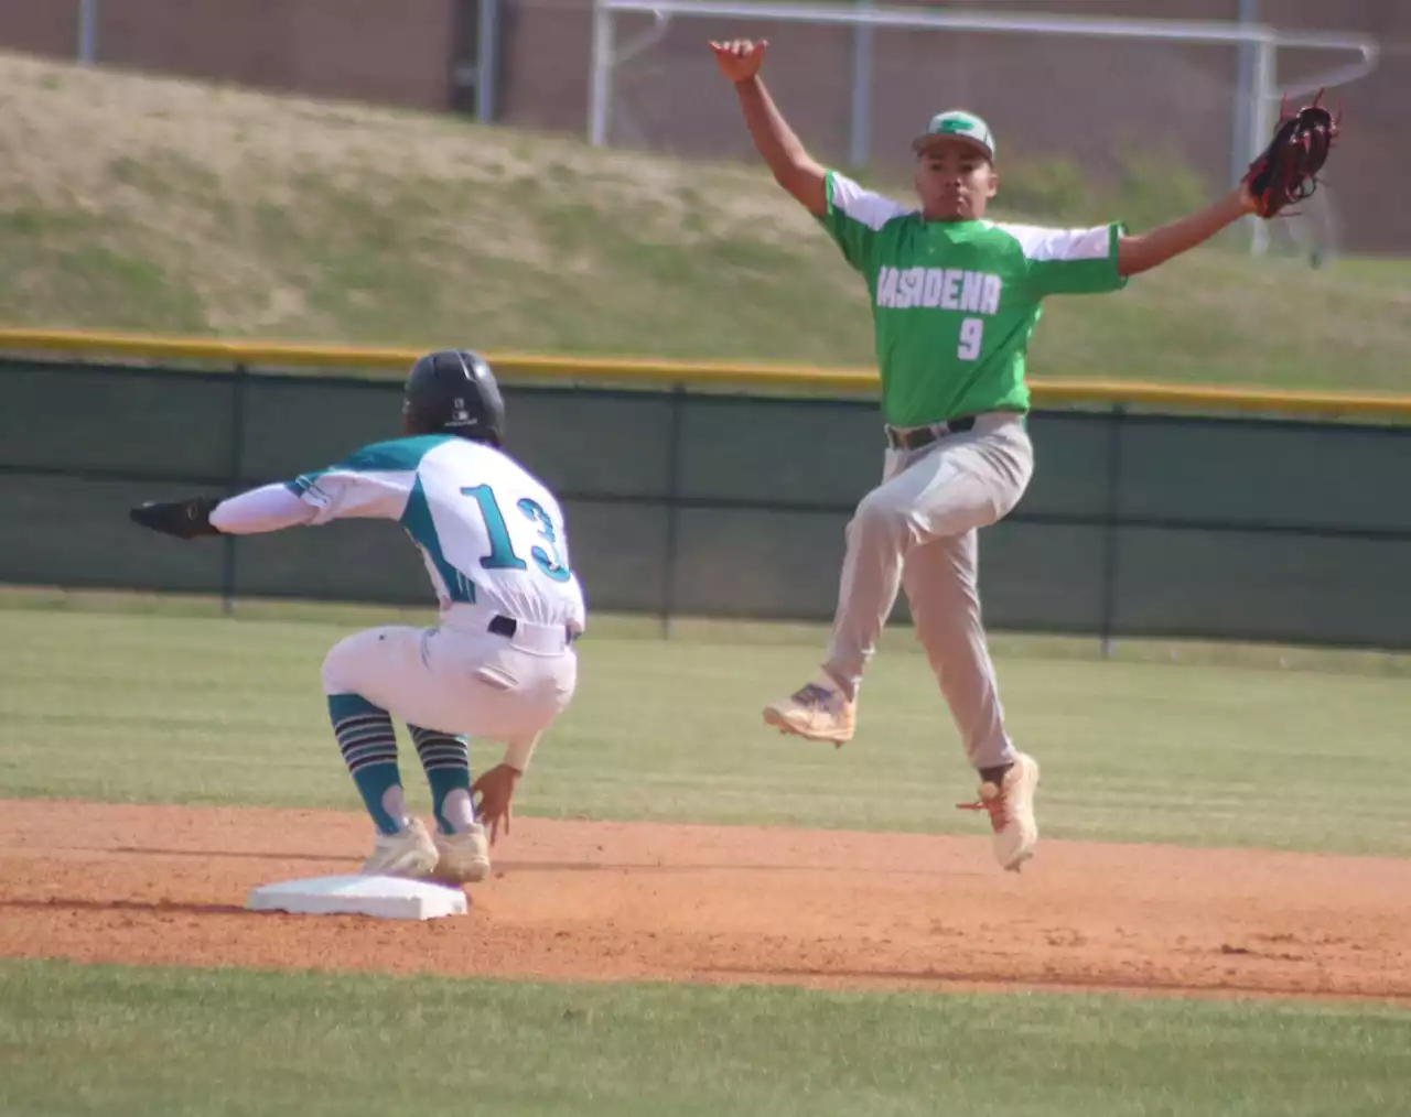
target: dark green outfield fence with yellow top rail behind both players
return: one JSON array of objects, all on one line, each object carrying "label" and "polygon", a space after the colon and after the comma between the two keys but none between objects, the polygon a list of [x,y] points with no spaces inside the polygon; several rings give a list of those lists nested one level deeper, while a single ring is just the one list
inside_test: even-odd
[{"label": "dark green outfield fence with yellow top rail behind both players", "polygon": [[[0,330],[0,581],[429,604],[385,523],[178,544],[127,520],[389,437],[416,355]],[[831,618],[882,464],[873,374],[487,355],[591,609]],[[1037,381],[1034,399],[1034,482],[981,536],[991,628],[1411,647],[1411,396]]]}]

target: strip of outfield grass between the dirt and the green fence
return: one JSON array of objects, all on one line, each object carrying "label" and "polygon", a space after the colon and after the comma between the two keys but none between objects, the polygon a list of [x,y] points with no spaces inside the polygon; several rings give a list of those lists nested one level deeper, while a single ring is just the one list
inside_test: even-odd
[{"label": "strip of outfield grass between the dirt and the green fence", "polygon": [[[326,649],[354,626],[0,611],[0,786],[356,810],[319,685]],[[584,640],[579,695],[540,746],[522,810],[974,832],[952,810],[972,773],[906,630],[889,632],[848,747],[761,724],[761,705],[806,678],[820,647]],[[1022,652],[999,670],[1012,728],[1044,763],[1051,836],[1411,855],[1404,673]],[[497,759],[498,747],[473,752],[477,767]],[[409,747],[404,776],[425,810]]]}]

